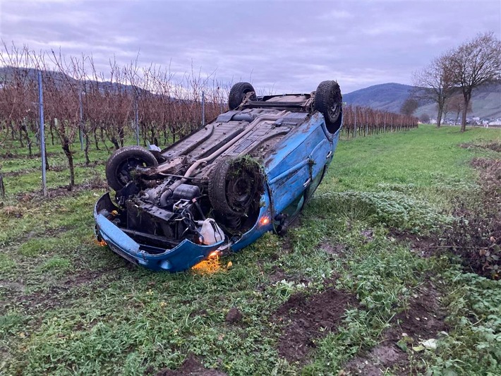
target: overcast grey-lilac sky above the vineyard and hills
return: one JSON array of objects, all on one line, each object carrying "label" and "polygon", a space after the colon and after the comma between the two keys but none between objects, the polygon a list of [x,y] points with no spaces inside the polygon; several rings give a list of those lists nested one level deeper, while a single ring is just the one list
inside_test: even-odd
[{"label": "overcast grey-lilac sky above the vineyard and hills", "polygon": [[310,92],[337,80],[343,92],[411,74],[478,32],[501,37],[501,1],[6,1],[7,44],[215,72],[256,89]]}]

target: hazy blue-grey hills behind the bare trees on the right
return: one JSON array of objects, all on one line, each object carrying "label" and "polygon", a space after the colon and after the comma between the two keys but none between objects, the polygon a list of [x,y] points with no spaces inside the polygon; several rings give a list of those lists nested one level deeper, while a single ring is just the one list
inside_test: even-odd
[{"label": "hazy blue-grey hills behind the bare trees on the right", "polygon": [[[384,83],[373,85],[365,89],[356,90],[343,95],[343,101],[347,104],[372,107],[373,109],[399,112],[404,101],[409,97],[412,90],[417,89],[411,85],[399,83]],[[469,116],[478,116],[481,119],[501,118],[501,83],[493,83],[479,87],[473,92],[472,109]],[[427,113],[430,117],[436,117],[434,103],[422,103],[416,110],[416,116]],[[455,114],[447,114],[447,118],[455,118]]]}]

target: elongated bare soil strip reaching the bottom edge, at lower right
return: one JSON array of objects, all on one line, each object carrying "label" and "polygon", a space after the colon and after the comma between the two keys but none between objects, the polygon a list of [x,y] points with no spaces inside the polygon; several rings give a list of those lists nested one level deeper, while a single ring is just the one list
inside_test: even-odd
[{"label": "elongated bare soil strip reaching the bottom edge, at lower right", "polygon": [[[419,287],[409,308],[392,319],[392,327],[382,334],[381,343],[346,363],[344,375],[379,376],[387,370],[395,375],[414,374],[416,370],[411,369],[409,351],[421,341],[436,339],[437,334],[446,331],[444,319],[445,312],[435,286],[430,282]],[[419,354],[414,353],[414,358]]]}]

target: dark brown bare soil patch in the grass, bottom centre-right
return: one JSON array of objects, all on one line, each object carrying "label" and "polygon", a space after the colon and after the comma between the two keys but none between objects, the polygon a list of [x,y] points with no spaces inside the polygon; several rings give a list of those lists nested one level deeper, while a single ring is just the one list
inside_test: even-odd
[{"label": "dark brown bare soil patch in the grass, bottom centre-right", "polygon": [[294,294],[274,314],[275,322],[286,323],[278,341],[279,355],[302,363],[315,348],[314,340],[336,331],[346,310],[357,305],[351,293],[334,287],[310,297]]}]

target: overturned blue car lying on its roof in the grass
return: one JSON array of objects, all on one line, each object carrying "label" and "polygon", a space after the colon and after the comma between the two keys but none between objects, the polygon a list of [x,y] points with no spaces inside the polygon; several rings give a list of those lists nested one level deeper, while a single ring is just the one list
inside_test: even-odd
[{"label": "overturned blue car lying on its roof in the grass", "polygon": [[236,83],[229,109],[163,150],[116,150],[106,165],[116,195],[95,205],[97,240],[137,265],[180,272],[284,234],[332,161],[339,85],[257,97]]}]

